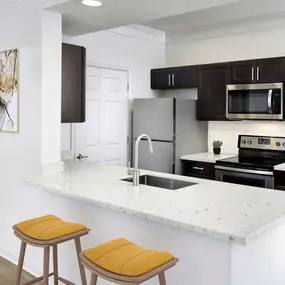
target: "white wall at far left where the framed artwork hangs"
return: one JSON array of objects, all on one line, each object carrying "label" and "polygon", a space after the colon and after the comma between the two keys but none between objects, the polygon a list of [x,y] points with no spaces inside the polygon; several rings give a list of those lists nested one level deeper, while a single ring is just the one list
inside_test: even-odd
[{"label": "white wall at far left where the framed artwork hangs", "polygon": [[[20,246],[19,240],[13,235],[12,226],[19,221],[46,214],[42,207],[44,197],[27,191],[22,183],[24,178],[40,173],[42,163],[42,111],[46,106],[42,105],[44,22],[41,4],[39,0],[27,0],[0,9],[0,50],[19,48],[20,60],[20,131],[19,134],[0,132],[0,255],[12,261],[16,261]],[[57,70],[53,71],[58,74]],[[51,85],[54,78],[47,78]],[[58,90],[54,89],[53,92],[59,94]],[[53,94],[50,95],[55,99]],[[54,115],[49,107],[46,111],[44,113],[49,113],[49,117]],[[51,123],[49,130],[60,128],[60,120],[53,122],[53,126]],[[51,145],[45,147],[53,148]],[[27,253],[25,268],[40,270],[42,252],[28,249]]]}]

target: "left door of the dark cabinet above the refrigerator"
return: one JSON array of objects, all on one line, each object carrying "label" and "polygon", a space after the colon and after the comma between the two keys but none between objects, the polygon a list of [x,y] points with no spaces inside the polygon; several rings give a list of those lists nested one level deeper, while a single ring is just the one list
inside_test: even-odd
[{"label": "left door of the dark cabinet above the refrigerator", "polygon": [[151,89],[172,89],[174,69],[161,68],[151,70]]}]

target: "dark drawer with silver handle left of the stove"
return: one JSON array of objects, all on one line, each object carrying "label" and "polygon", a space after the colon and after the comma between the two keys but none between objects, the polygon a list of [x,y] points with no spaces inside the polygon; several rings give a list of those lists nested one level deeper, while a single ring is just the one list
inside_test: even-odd
[{"label": "dark drawer with silver handle left of the stove", "polygon": [[209,162],[183,160],[183,175],[215,180],[215,164]]}]

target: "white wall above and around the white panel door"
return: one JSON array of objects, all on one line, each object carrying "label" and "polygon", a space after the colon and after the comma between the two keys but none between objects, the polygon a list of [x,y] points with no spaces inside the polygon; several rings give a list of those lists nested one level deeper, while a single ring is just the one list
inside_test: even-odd
[{"label": "white wall above and around the white panel door", "polygon": [[[87,64],[127,70],[131,98],[157,95],[150,89],[150,69],[165,64],[164,33],[127,26],[63,40],[85,46]],[[70,125],[62,124],[62,151],[70,150],[69,142]]]}]

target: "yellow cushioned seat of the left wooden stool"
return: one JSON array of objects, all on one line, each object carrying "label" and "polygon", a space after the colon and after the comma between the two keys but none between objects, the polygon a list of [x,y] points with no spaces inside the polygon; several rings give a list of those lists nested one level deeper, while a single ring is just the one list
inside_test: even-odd
[{"label": "yellow cushioned seat of the left wooden stool", "polygon": [[84,225],[67,223],[53,215],[24,221],[16,227],[24,235],[43,241],[65,237],[87,229]]}]

